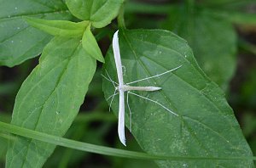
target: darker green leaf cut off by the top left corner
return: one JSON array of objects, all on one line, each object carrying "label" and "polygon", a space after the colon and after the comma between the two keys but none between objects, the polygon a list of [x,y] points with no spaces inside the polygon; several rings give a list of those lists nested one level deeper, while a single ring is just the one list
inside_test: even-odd
[{"label": "darker green leaf cut off by the top left corner", "polygon": [[42,53],[52,36],[26,23],[24,16],[70,20],[61,0],[0,0],[0,65],[14,66]]}]

